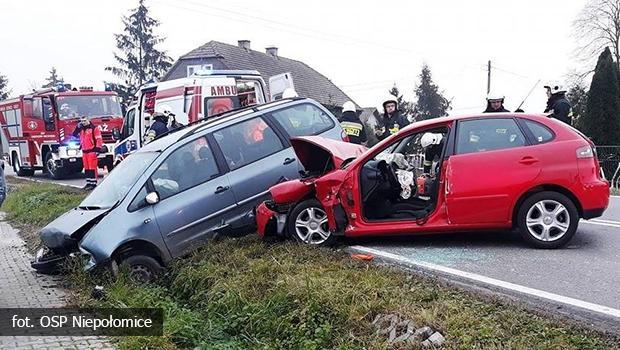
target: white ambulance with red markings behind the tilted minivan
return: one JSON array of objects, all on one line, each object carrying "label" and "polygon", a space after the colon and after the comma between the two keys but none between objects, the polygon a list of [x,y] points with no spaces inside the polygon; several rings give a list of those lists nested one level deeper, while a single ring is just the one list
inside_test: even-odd
[{"label": "white ambulance with red markings behind the tilted minivan", "polygon": [[176,121],[187,125],[228,110],[278,99],[287,88],[293,88],[290,73],[270,77],[268,94],[260,73],[252,70],[205,70],[187,78],[146,84],[127,109],[122,129],[115,133],[119,140],[114,148],[115,164],[142,147],[144,134],[153,122],[152,115],[160,105],[170,106]]}]

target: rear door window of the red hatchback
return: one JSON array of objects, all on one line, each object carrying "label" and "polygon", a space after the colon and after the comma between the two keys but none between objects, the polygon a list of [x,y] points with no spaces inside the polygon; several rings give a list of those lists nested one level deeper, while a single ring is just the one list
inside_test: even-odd
[{"label": "rear door window of the red hatchback", "polygon": [[525,136],[514,119],[476,119],[459,122],[456,154],[524,146]]}]

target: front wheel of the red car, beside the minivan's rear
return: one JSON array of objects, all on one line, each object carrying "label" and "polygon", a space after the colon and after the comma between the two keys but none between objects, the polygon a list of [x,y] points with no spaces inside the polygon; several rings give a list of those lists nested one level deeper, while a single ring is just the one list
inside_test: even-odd
[{"label": "front wheel of the red car, beside the minivan's rear", "polygon": [[327,215],[316,199],[297,204],[288,216],[287,232],[297,242],[317,246],[331,246],[337,237],[329,231]]}]

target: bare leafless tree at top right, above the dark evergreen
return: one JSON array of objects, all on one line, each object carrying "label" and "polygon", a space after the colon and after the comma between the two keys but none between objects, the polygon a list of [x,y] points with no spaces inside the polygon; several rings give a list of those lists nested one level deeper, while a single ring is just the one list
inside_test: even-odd
[{"label": "bare leafless tree at top right, above the dark evergreen", "polygon": [[590,0],[573,22],[573,28],[578,58],[593,63],[605,47],[609,47],[620,68],[620,0]]}]

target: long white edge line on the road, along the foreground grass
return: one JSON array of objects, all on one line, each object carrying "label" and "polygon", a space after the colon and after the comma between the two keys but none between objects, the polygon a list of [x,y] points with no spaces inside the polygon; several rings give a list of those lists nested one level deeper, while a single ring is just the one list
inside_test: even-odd
[{"label": "long white edge line on the road, along the foreground grass", "polygon": [[[620,227],[620,225],[618,227]],[[389,252],[386,252],[386,251],[383,251],[383,250],[379,250],[379,249],[373,249],[373,248],[362,247],[362,246],[352,246],[350,248],[353,249],[353,250],[359,251],[359,252],[363,252],[363,253],[367,253],[367,254],[373,254],[373,255],[376,255],[376,256],[379,256],[379,257],[382,257],[382,258],[386,258],[386,259],[389,259],[389,260],[405,263],[405,264],[408,264],[408,265],[413,265],[413,266],[421,267],[421,268],[424,268],[424,269],[427,269],[427,270],[443,272],[443,273],[447,273],[447,274],[450,274],[450,275],[462,277],[462,278],[465,278],[465,279],[468,279],[468,280],[471,280],[471,281],[481,282],[481,283],[484,283],[484,284],[487,284],[487,285],[492,285],[492,286],[496,286],[496,287],[500,287],[500,288],[504,288],[504,289],[508,289],[508,290],[512,290],[512,291],[516,291],[516,292],[520,292],[520,293],[523,293],[523,294],[528,294],[528,295],[535,296],[535,297],[538,297],[538,298],[547,299],[547,300],[559,302],[559,303],[562,303],[562,304],[571,305],[571,306],[575,306],[575,307],[578,307],[578,308],[586,309],[586,310],[589,310],[589,311],[594,311],[594,312],[597,312],[597,313],[605,314],[605,315],[608,315],[608,316],[620,318],[620,310],[614,309],[614,308],[611,308],[611,307],[608,307],[608,306],[593,304],[593,303],[589,303],[587,301],[573,299],[573,298],[566,297],[566,296],[563,296],[563,295],[549,293],[549,292],[545,292],[545,291],[542,291],[542,290],[539,290],[539,289],[525,287],[525,286],[521,286],[521,285],[518,285],[518,284],[514,284],[514,283],[510,283],[510,282],[506,282],[506,281],[501,281],[501,280],[498,280],[498,279],[494,279],[494,278],[478,275],[478,274],[467,272],[467,271],[461,271],[461,270],[457,270],[457,269],[453,269],[453,268],[450,268],[450,267],[445,267],[445,266],[441,266],[441,265],[437,265],[437,264],[433,264],[433,263],[428,263],[428,262],[419,261],[419,260],[415,260],[415,259],[409,259],[407,257],[401,256],[401,255],[398,255],[398,254],[389,253]]]}]

